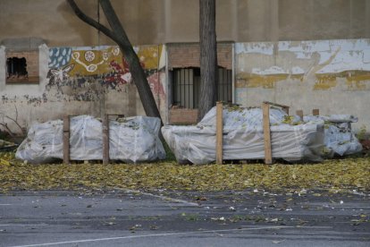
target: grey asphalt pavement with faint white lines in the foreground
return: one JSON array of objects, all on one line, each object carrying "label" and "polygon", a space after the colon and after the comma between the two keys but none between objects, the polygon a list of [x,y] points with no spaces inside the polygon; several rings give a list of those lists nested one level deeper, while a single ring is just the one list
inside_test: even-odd
[{"label": "grey asphalt pavement with faint white lines in the foreground", "polygon": [[370,246],[369,216],[356,191],[12,192],[0,246]]}]

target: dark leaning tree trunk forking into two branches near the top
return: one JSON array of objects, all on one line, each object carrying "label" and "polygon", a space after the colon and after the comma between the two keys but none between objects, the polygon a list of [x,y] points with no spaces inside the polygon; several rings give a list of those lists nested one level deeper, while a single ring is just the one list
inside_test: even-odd
[{"label": "dark leaning tree trunk forking into two branches near the top", "polygon": [[[161,119],[161,115],[159,114],[159,110],[156,106],[156,100],[147,81],[147,76],[140,65],[139,57],[135,53],[130,43],[130,39],[127,37],[126,32],[122,27],[121,21],[118,19],[116,13],[114,12],[114,8],[110,1],[99,0],[99,4],[103,9],[105,17],[112,30],[109,30],[104,25],[88,17],[88,15],[80,10],[74,0],[67,0],[67,2],[71,5],[74,13],[76,13],[81,21],[84,21],[88,23],[88,25],[96,28],[97,30],[100,30],[107,37],[112,38],[114,42],[117,43],[117,45],[121,48],[124,59],[126,59],[127,63],[129,64],[130,73],[138,89],[139,97],[141,99],[141,103],[144,106],[145,113],[147,114],[147,116],[155,116]],[[162,119],[161,124],[163,125]]]}]

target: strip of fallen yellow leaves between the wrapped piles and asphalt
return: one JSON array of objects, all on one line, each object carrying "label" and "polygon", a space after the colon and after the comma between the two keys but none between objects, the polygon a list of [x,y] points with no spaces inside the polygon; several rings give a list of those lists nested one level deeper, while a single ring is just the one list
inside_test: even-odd
[{"label": "strip of fallen yellow leaves between the wrapped piles and asphalt", "polygon": [[264,188],[370,191],[370,158],[326,160],[307,165],[49,164],[29,165],[0,153],[0,192],[18,190],[243,190]]}]

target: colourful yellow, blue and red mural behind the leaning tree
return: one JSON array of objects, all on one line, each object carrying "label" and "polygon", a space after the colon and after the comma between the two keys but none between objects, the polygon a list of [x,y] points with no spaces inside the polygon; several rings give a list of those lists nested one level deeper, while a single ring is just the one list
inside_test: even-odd
[{"label": "colourful yellow, blue and red mural behind the leaning tree", "polygon": [[[153,93],[164,98],[164,87],[159,80],[162,46],[134,47],[144,68]],[[57,94],[73,93],[74,100],[96,100],[98,82],[106,90],[125,90],[132,83],[129,64],[119,47],[54,47],[49,49],[48,84],[46,90]],[[72,88],[74,90],[65,89]]]}]

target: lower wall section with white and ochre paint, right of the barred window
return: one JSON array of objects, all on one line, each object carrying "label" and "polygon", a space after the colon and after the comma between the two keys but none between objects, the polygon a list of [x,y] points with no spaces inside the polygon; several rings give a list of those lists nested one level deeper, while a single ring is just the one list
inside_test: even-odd
[{"label": "lower wall section with white and ochre paint, right of the barred window", "polygon": [[356,115],[355,129],[370,130],[370,39],[237,43],[235,53],[236,103]]}]

